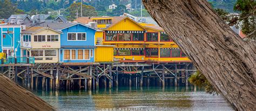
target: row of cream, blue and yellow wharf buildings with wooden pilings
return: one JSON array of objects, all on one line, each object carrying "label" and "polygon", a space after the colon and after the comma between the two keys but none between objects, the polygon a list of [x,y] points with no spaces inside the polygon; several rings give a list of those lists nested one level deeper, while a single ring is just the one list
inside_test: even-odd
[{"label": "row of cream, blue and yellow wharf buildings with wooden pilings", "polygon": [[161,27],[124,16],[75,21],[21,29],[19,55],[2,58],[1,73],[33,90],[190,85],[194,66]]}]

